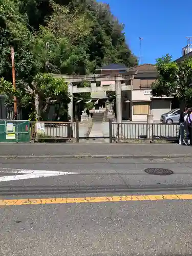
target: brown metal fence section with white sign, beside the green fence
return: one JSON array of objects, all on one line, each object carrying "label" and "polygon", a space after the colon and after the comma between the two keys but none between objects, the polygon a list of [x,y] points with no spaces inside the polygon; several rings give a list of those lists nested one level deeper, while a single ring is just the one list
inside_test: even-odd
[{"label": "brown metal fence section with white sign, beside the green fence", "polygon": [[31,140],[36,142],[78,142],[78,122],[30,122]]}]

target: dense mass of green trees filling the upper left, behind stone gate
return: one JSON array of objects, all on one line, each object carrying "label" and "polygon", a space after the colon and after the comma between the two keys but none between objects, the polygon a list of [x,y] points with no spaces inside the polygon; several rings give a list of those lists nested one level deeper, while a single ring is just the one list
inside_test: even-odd
[{"label": "dense mass of green trees filling the upper left, behind stone gate", "polygon": [[[15,51],[17,92],[2,90],[5,80],[0,82],[7,104],[17,93],[18,108],[34,110],[34,83],[44,73],[89,74],[112,62],[137,65],[122,31],[109,6],[96,0],[0,0],[0,78],[7,82],[12,81],[10,47]],[[63,82],[50,75],[49,80],[63,88],[67,100]],[[41,90],[40,111],[47,98],[60,104],[57,96]]]}]

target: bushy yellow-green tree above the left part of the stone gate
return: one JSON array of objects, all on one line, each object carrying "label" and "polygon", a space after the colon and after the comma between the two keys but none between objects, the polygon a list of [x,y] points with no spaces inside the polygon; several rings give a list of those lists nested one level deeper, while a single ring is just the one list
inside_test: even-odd
[{"label": "bushy yellow-green tree above the left part of the stone gate", "polygon": [[82,42],[90,33],[86,14],[70,13],[53,4],[46,27],[40,26],[33,45],[34,58],[41,72],[86,74],[89,56]]}]

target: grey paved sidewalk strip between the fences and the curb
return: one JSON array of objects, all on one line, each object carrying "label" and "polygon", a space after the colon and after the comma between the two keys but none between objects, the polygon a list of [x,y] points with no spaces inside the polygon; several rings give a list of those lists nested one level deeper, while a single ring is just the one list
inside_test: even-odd
[{"label": "grey paved sidewalk strip between the fences and the curb", "polygon": [[4,157],[192,157],[192,147],[177,144],[109,144],[109,143],[25,143],[0,144]]}]

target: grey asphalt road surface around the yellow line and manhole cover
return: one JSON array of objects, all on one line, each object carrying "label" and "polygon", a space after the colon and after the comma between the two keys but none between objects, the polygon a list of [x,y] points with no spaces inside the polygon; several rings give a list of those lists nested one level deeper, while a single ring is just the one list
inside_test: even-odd
[{"label": "grey asphalt road surface around the yellow line and manhole cover", "polygon": [[[192,194],[191,158],[0,159],[0,168],[0,178],[17,176],[12,173],[15,169],[77,173],[0,181],[1,200],[98,199],[94,203],[1,206],[2,256],[192,253],[191,200],[99,202],[101,197],[124,195]],[[167,168],[174,173],[150,175],[144,172],[146,168]]]}]

